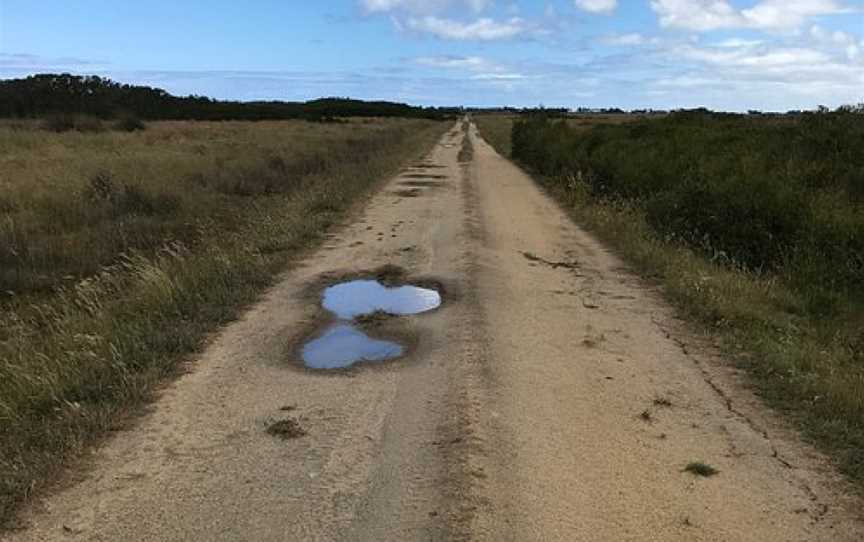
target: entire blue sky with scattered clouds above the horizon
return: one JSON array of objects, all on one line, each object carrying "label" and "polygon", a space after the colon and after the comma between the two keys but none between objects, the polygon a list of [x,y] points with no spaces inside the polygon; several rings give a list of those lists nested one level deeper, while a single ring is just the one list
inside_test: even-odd
[{"label": "entire blue sky with scattered clouds above the horizon", "polygon": [[864,0],[0,0],[0,78],[235,100],[785,111],[864,102]]}]

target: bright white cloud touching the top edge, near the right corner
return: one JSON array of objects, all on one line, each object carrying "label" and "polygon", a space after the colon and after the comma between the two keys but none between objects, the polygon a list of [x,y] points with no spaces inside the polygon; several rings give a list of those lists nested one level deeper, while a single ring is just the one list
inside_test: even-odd
[{"label": "bright white cloud touching the top edge, near the right corner", "polygon": [[728,0],[652,0],[660,24],[697,32],[723,28],[791,30],[821,15],[847,13],[836,0],[761,0],[736,9]]}]

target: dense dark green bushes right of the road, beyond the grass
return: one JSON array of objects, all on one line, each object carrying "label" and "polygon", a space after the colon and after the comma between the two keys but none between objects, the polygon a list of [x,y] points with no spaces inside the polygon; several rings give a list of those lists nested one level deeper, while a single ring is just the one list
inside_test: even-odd
[{"label": "dense dark green bushes right of the road, beyond the grass", "polygon": [[513,157],[550,182],[580,174],[592,196],[639,205],[665,239],[860,290],[862,121],[855,109],[758,119],[690,111],[585,131],[534,116],[514,124]]}]

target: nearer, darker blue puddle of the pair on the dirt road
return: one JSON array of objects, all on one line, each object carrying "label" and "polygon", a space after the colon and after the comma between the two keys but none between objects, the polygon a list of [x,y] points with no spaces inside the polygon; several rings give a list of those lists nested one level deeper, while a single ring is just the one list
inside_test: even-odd
[{"label": "nearer, darker blue puddle of the pair on the dirt road", "polygon": [[310,369],[340,369],[360,361],[383,361],[402,355],[402,346],[372,339],[347,324],[337,324],[303,347]]}]

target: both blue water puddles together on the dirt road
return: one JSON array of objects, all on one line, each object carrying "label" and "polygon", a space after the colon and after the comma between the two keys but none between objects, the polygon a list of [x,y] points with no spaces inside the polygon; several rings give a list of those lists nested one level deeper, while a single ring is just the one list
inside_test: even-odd
[{"label": "both blue water puddles together on the dirt road", "polygon": [[303,363],[310,369],[343,369],[364,361],[385,361],[401,356],[404,348],[393,341],[373,339],[352,321],[377,314],[407,316],[441,306],[441,294],[418,286],[388,287],[377,280],[353,280],[324,290],[322,306],[337,322],[303,347]]}]

